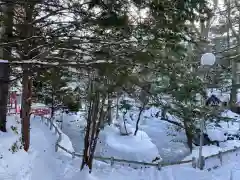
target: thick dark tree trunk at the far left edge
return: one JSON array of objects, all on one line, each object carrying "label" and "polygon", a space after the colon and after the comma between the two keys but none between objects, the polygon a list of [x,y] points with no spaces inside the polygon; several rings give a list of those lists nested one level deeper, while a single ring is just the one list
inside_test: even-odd
[{"label": "thick dark tree trunk at the far left edge", "polygon": [[[13,30],[13,3],[6,3],[3,14],[3,24],[1,39],[4,42],[12,40]],[[4,60],[11,59],[11,46],[6,46],[1,49],[1,57]],[[7,103],[8,103],[8,83],[10,75],[9,64],[0,65],[0,131],[6,132],[6,116],[7,116]]]}]

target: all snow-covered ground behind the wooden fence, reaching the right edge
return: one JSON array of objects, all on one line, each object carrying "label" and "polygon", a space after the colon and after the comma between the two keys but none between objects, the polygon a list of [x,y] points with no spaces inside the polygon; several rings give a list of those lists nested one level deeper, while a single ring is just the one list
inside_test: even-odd
[{"label": "all snow-covered ground behind the wooden fence, reaching the right edge", "polygon": [[[186,145],[186,137],[183,131],[176,131],[176,126],[168,122],[159,120],[155,114],[158,108],[145,110],[140,120],[139,132],[136,137],[132,134],[129,136],[120,136],[114,126],[107,126],[101,131],[96,149],[96,155],[104,157],[114,156],[116,158],[147,161],[151,162],[156,157],[160,157],[164,162],[178,162],[181,160],[192,159],[198,156],[198,147],[194,147],[190,154]],[[84,127],[86,125],[84,112],[77,114],[59,114],[56,119],[63,119],[63,132],[66,133],[73,143],[76,152],[83,151]],[[129,132],[133,133],[135,129],[136,111],[129,111],[126,116],[126,124]],[[178,121],[174,116],[169,115],[171,120]],[[225,111],[222,116],[233,118],[236,121],[240,119],[239,115]],[[120,121],[121,120],[120,116]],[[209,124],[206,132],[211,140],[226,141],[226,133],[236,134],[239,132],[238,122],[219,122],[221,127]],[[114,143],[115,142],[115,143]],[[239,140],[230,140],[221,142],[220,146],[205,146],[203,156],[217,154],[219,151],[226,151],[240,146]]]}]

